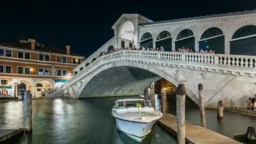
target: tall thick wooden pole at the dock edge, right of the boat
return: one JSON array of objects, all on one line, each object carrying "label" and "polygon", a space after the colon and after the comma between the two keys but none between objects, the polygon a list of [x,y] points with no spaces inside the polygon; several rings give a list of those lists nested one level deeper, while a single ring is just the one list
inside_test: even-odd
[{"label": "tall thick wooden pole at the dock edge, right of the boat", "polygon": [[176,91],[176,115],[177,115],[177,139],[179,144],[185,144],[185,99],[186,90],[184,84],[179,84]]}]

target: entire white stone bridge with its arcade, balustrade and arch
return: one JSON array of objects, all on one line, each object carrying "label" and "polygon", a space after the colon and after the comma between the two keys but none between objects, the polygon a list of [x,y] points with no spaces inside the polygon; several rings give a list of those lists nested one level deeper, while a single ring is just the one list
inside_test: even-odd
[{"label": "entire white stone bridge with its arcade, balustrade and arch", "polygon": [[[203,83],[206,107],[219,100],[245,107],[256,94],[256,11],[151,21],[139,14],[123,14],[113,25],[115,36],[73,70],[62,85],[72,98],[127,96],[143,93],[164,78],[184,83],[187,96],[198,103],[197,85]],[[120,47],[163,46],[165,51],[120,50]],[[175,52],[189,48],[195,53]],[[216,54],[198,53],[200,49]]]}]

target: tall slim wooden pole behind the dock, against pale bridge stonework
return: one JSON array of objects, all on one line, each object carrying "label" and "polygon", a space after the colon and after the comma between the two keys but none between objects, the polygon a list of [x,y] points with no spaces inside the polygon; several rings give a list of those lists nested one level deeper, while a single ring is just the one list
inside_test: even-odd
[{"label": "tall slim wooden pole behind the dock, against pale bridge stonework", "polygon": [[201,126],[206,128],[205,122],[205,104],[203,101],[203,84],[198,84],[198,96],[199,96],[199,108],[200,108],[200,116],[201,116]]}]

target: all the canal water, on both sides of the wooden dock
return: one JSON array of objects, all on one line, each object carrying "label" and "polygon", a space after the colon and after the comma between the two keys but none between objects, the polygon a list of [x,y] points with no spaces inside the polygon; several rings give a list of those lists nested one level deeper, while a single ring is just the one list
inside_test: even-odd
[{"label": "all the canal water, on both sides of the wooden dock", "polygon": [[[129,97],[131,98],[131,97]],[[33,100],[32,134],[17,136],[4,144],[136,144],[137,141],[117,131],[110,112],[120,98],[97,99],[40,99]],[[157,109],[161,102],[156,100]],[[165,113],[176,115],[176,97],[167,96]],[[0,129],[23,127],[22,101],[0,102]],[[186,120],[200,125],[197,105],[186,98]],[[245,133],[248,125],[256,126],[256,118],[224,111],[222,120],[217,111],[206,109],[208,129],[233,138]],[[253,144],[245,142],[246,144]],[[158,125],[141,144],[177,144],[176,140]]]}]

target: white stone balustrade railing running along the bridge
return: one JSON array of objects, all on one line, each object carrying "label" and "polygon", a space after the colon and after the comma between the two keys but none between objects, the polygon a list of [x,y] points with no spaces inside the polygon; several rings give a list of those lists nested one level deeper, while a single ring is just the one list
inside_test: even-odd
[{"label": "white stone balustrade railing running along the bridge", "polygon": [[235,75],[236,73],[244,75],[248,73],[250,77],[254,77],[256,74],[256,56],[121,50],[99,57],[88,67],[85,67],[85,63],[80,64],[75,69],[77,71],[79,71],[80,67],[84,67],[84,69],[65,83],[63,88],[74,83],[76,80],[80,79],[80,77],[91,74],[103,63],[115,62],[117,59],[145,61],[147,64],[150,64],[152,61],[157,61],[156,63],[165,65],[169,65],[170,63],[172,63],[172,65],[178,65],[179,63],[182,66],[194,67],[195,69],[201,68],[201,70],[205,68],[208,69],[208,71],[216,69],[216,72],[222,70],[223,73],[229,71],[231,75]]}]

